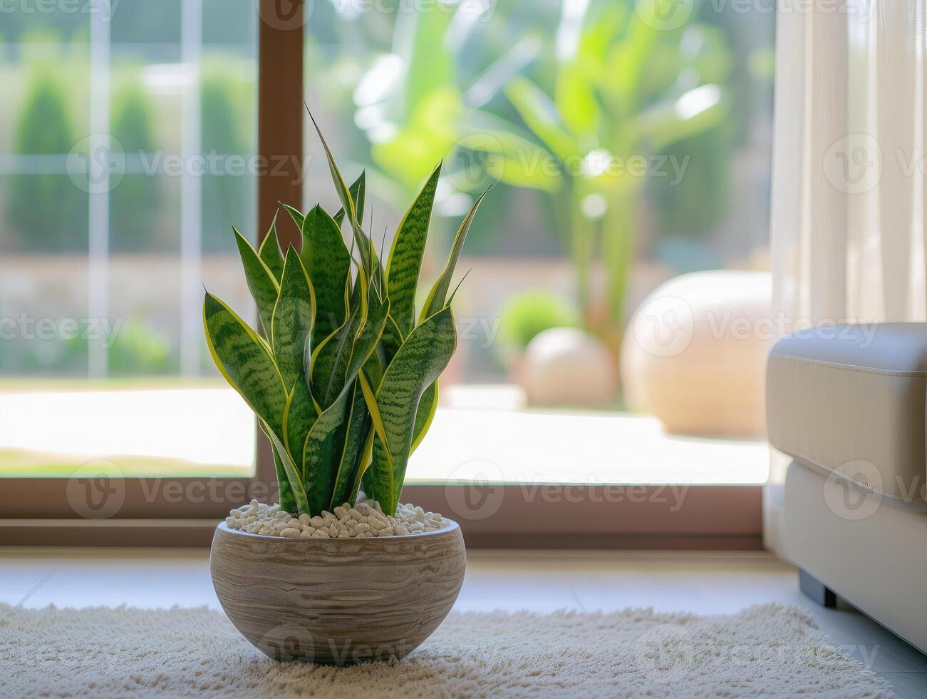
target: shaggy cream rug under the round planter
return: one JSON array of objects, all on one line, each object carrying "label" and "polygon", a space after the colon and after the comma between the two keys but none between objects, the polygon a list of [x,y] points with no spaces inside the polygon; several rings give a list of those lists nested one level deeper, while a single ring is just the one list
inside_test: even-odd
[{"label": "shaggy cream rug under the round planter", "polygon": [[884,697],[796,607],[452,614],[406,660],[280,664],[208,609],[0,604],[0,696]]}]

